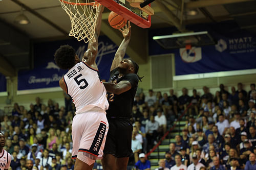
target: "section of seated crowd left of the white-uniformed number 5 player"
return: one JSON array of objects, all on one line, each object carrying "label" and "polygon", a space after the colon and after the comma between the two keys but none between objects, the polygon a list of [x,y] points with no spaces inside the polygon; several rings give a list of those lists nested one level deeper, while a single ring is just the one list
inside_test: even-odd
[{"label": "section of seated crowd left of the white-uniformed number 5 player", "polygon": [[12,115],[5,115],[1,131],[6,136],[4,149],[12,155],[10,169],[73,169],[71,125],[75,113],[72,101],[59,107],[49,99],[35,99],[28,110],[14,104]]}]

